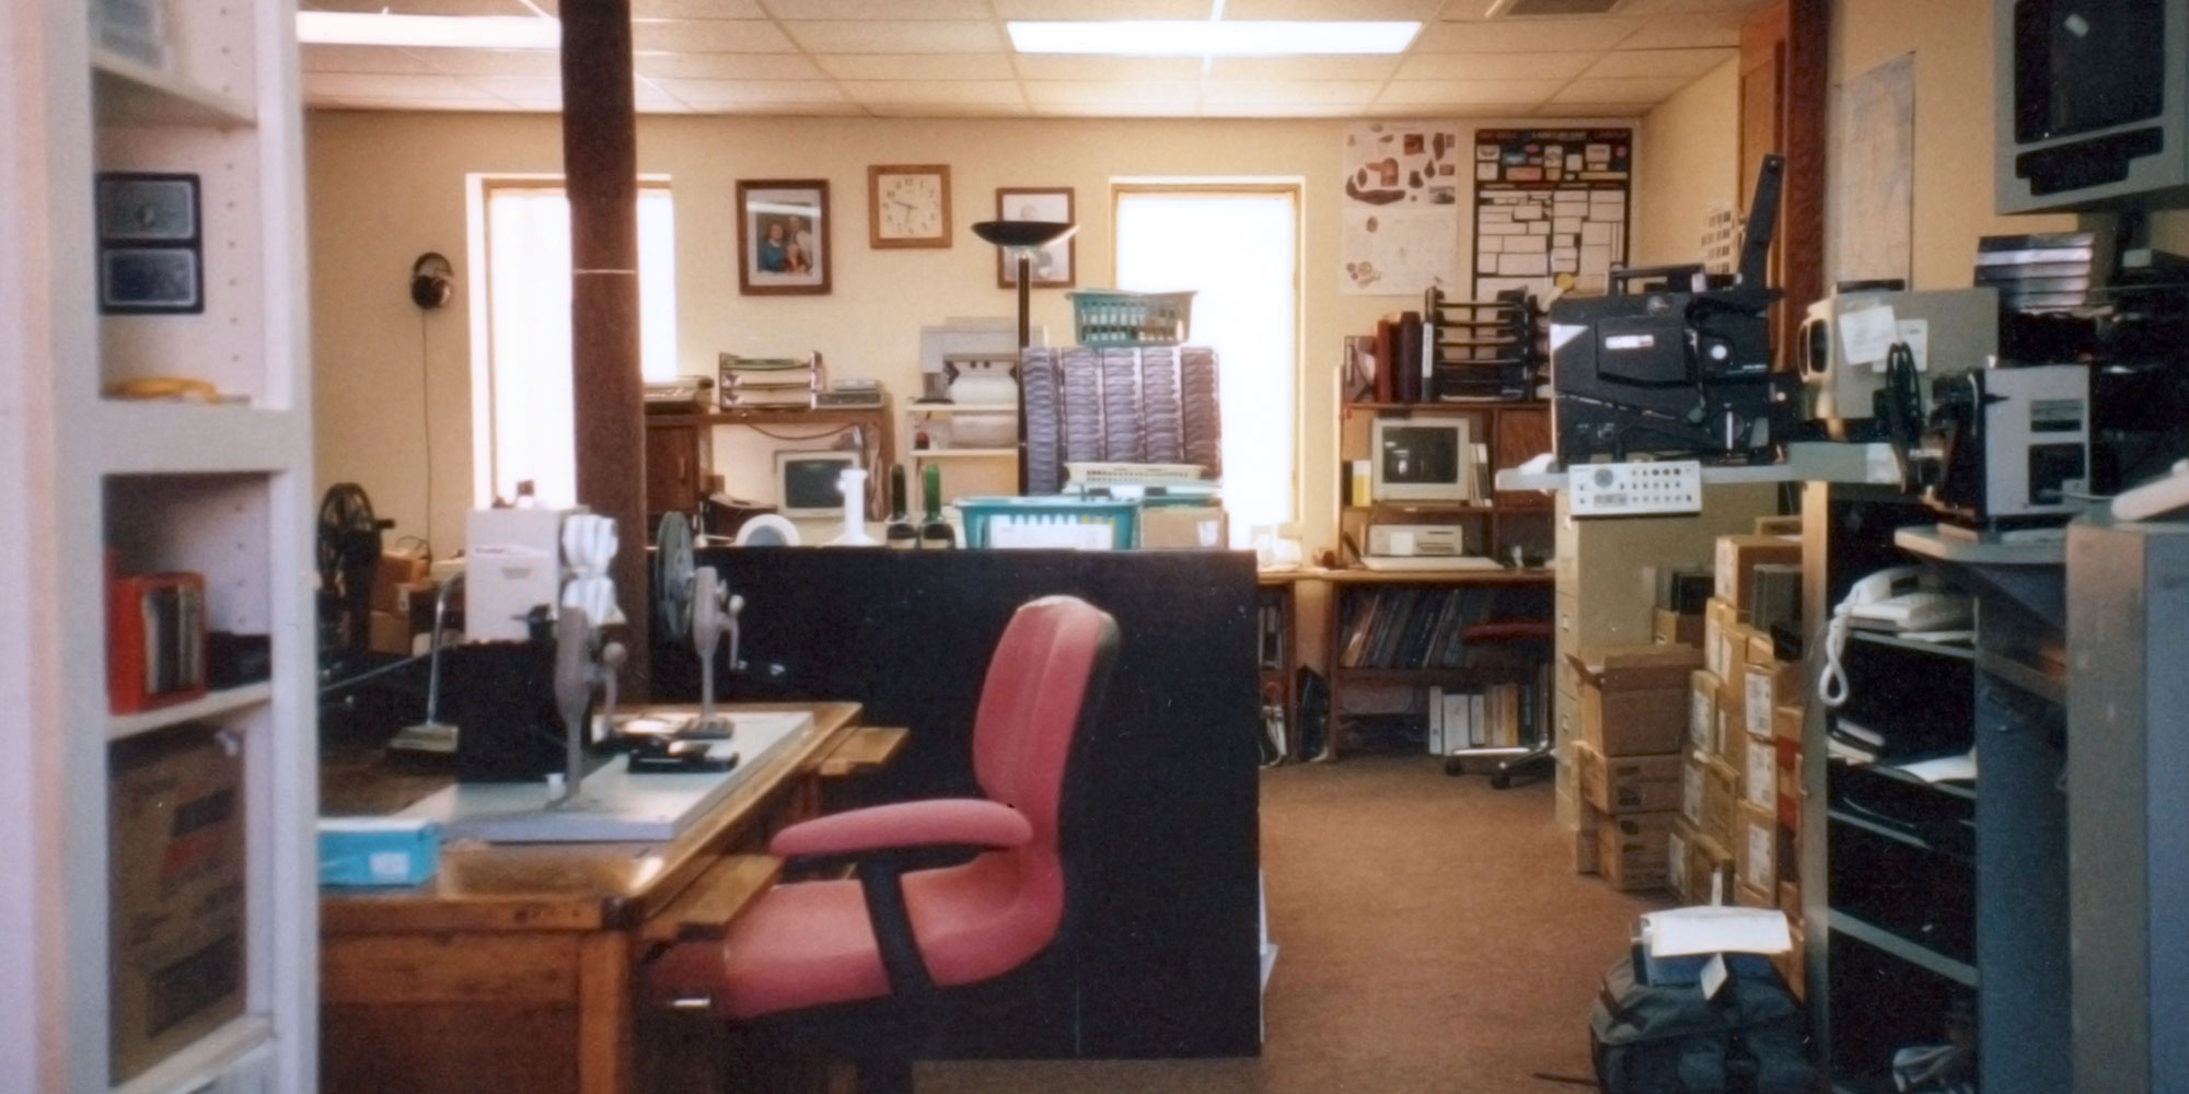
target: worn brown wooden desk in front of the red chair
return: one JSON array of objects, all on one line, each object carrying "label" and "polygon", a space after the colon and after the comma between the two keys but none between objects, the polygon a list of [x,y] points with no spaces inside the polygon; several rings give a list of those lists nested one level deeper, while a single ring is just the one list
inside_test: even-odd
[{"label": "worn brown wooden desk in front of the red chair", "polygon": [[[823,761],[854,735],[856,702],[762,761],[683,836],[661,845],[451,845],[440,875],[320,901],[320,1090],[628,1094],[661,1090],[641,1048],[637,967],[683,917],[736,915],[773,880],[760,853],[816,810]],[[333,770],[328,812],[390,812],[447,779]],[[396,801],[390,801],[396,799]],[[366,810],[357,810],[363,803]]]}]

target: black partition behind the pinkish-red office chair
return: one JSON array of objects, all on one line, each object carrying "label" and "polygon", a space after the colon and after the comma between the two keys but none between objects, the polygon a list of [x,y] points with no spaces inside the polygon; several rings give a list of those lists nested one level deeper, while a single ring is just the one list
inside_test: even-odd
[{"label": "black partition behind the pinkish-red office chair", "polygon": [[[744,597],[755,672],[727,698],[845,698],[911,726],[887,799],[972,792],[972,713],[1014,608],[1073,593],[1114,615],[1105,715],[1075,759],[1090,836],[1075,941],[978,991],[937,1055],[1261,1050],[1252,556],[742,547],[698,565]],[[652,665],[655,698],[698,694],[687,648],[657,645]]]}]

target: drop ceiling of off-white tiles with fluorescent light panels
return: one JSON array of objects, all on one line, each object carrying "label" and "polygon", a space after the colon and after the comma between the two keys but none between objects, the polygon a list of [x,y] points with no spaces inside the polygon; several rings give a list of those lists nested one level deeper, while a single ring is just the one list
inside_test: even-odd
[{"label": "drop ceiling of off-white tiles with fluorescent light panels", "polygon": [[[335,11],[381,9],[385,0],[306,0],[306,7]],[[1364,7],[1366,4],[1366,7]],[[1683,85],[1725,59],[1734,57],[1738,42],[1738,20],[1760,7],[1762,0],[1629,0],[1615,13],[1602,18],[1548,18],[1548,20],[1482,20],[1491,0],[1228,0],[1226,15],[1235,18],[1418,18],[1423,31],[1373,79],[1375,90],[1362,105],[1364,116],[1423,116],[1451,112],[1460,116],[1482,116],[1495,109],[1534,109],[1570,105],[1580,101],[1602,103],[1607,92],[1622,92],[1609,105],[1640,114],[1670,90]],[[528,13],[556,11],[552,0],[392,0],[407,13]],[[700,26],[641,28],[635,35],[648,48],[646,57],[705,57],[725,63],[705,68],[705,77],[637,74],[635,96],[641,109],[668,109],[692,114],[797,114],[812,109],[827,114],[856,114],[869,118],[906,116],[978,116],[994,109],[994,116],[1088,116],[1103,107],[1114,107],[1116,116],[1283,116],[1285,107],[1296,107],[1298,116],[1329,116],[1333,101],[1353,101],[1362,88],[1357,74],[1344,70],[1344,61],[1324,59],[1322,66],[1298,63],[1300,72],[1313,74],[1250,74],[1226,68],[1228,59],[1184,59],[1191,61],[1191,96],[1184,88],[1169,83],[1175,77],[1119,79],[1108,72],[1125,68],[1132,59],[1088,59],[1092,66],[1066,66],[1053,55],[1029,57],[1009,48],[1007,20],[1016,18],[1206,18],[1213,0],[895,0],[880,4],[873,0],[633,0],[639,20],[668,20],[692,24],[718,24],[700,33]],[[887,15],[876,20],[873,15]],[[1646,18],[1640,18],[1646,15]],[[746,26],[727,26],[744,22]],[[760,24],[760,26],[751,26]],[[834,24],[862,24],[834,26]],[[830,53],[830,48],[858,50],[880,46],[876,31],[889,24],[906,24],[900,31],[913,33],[917,42],[911,53]],[[985,24],[987,37],[972,31]],[[762,26],[766,31],[762,31]],[[731,53],[681,53],[679,35],[696,35]],[[996,48],[968,48],[992,42]],[[1633,48],[1629,48],[1633,42]],[[771,48],[775,46],[775,48]],[[825,48],[827,46],[827,48]],[[766,53],[738,53],[768,48]],[[322,81],[341,85],[341,94],[331,94],[337,103],[326,105],[370,105],[385,101],[398,109],[477,109],[482,96],[510,109],[552,109],[554,103],[536,94],[534,81],[512,81],[523,72],[497,70],[486,50],[387,50],[392,68],[403,72],[368,74],[357,66],[368,63],[352,57],[320,57],[306,50],[306,72],[341,72],[355,79]],[[462,57],[455,57],[462,55]],[[1499,59],[1534,55],[1556,55],[1541,72],[1524,74],[1513,63]],[[786,66],[771,70],[773,79],[736,74],[729,59],[773,57],[797,59],[795,66],[816,79],[781,79]],[[880,59],[889,59],[882,63]],[[950,77],[950,59],[974,57],[998,59],[976,72]],[[1469,57],[1482,57],[1495,77],[1469,77]],[[869,61],[873,59],[873,61]],[[1235,59],[1230,59],[1235,61]],[[1307,59],[1263,59],[1265,68],[1285,68]],[[862,66],[873,66],[871,72]],[[1092,72],[1090,72],[1092,68]],[[1158,68],[1158,66],[1143,66]],[[449,101],[418,94],[405,88],[405,79],[431,72],[447,77],[433,81],[451,92]],[[1009,79],[1003,77],[1005,72]],[[1103,79],[1084,79],[1101,72]],[[1184,77],[1184,72],[1180,72]],[[1151,96],[1136,83],[1162,79],[1175,96]],[[731,94],[725,85],[744,81],[749,94]],[[722,94],[705,94],[707,85]],[[781,90],[766,90],[781,83]],[[1009,83],[1009,94],[1003,92]],[[1300,94],[1283,96],[1274,88],[1298,85]],[[1491,85],[1506,83],[1510,94],[1497,94]],[[363,94],[370,88],[379,94]],[[810,88],[806,88],[810,85]],[[1443,85],[1451,92],[1440,101],[1432,90]],[[806,88],[803,92],[799,88]],[[924,88],[924,94],[922,94]],[[534,94],[514,94],[514,92]],[[808,94],[812,98],[808,98]],[[320,98],[320,96],[315,96]],[[322,98],[324,103],[324,98]],[[924,114],[933,112],[933,114]]]}]

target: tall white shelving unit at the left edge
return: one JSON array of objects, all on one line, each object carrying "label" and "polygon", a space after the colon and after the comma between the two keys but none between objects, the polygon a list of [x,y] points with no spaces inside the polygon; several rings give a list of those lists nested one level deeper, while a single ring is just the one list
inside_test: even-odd
[{"label": "tall white shelving unit at the left edge", "polygon": [[[0,998],[22,1015],[0,1024],[0,1090],[311,1092],[315,499],[296,2],[166,2],[160,66],[99,48],[96,7],[18,4],[0,31],[13,147],[0,184]],[[199,313],[101,313],[94,179],[109,171],[195,175]],[[103,394],[149,376],[208,381],[221,403]],[[107,558],[123,573],[201,573],[208,626],[267,635],[271,678],[112,713]],[[112,748],[184,724],[241,744],[243,1013],[118,1070]]]}]

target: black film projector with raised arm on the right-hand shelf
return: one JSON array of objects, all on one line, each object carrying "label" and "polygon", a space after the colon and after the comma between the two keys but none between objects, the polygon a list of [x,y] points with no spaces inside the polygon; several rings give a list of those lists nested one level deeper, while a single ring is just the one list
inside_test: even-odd
[{"label": "black film projector with raised arm on the right-hand shelf", "polygon": [[1559,462],[1607,455],[1769,462],[1793,422],[1793,379],[1771,372],[1764,287],[1786,160],[1756,179],[1740,269],[1633,267],[1611,293],[1550,306],[1550,383]]}]

